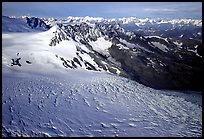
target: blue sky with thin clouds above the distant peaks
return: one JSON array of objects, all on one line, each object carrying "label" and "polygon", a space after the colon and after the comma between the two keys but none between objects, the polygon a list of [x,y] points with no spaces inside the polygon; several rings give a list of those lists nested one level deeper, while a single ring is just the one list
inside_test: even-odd
[{"label": "blue sky with thin clouds above the distant peaks", "polygon": [[202,2],[3,2],[7,16],[202,19]]}]

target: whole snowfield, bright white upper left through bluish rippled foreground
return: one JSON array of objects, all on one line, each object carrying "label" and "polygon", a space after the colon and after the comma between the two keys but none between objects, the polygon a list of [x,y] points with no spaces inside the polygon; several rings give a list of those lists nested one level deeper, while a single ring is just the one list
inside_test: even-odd
[{"label": "whole snowfield, bright white upper left through bluish rippled foreground", "polygon": [[[77,44],[50,47],[43,36],[49,37],[2,34],[2,136],[202,136],[200,92],[155,90],[106,72],[66,69],[55,55],[72,58]],[[11,66],[16,57],[22,66]]]}]

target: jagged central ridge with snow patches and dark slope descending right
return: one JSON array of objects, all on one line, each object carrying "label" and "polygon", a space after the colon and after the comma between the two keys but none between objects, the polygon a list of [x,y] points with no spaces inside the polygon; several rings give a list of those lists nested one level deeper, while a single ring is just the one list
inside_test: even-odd
[{"label": "jagged central ridge with snow patches and dark slope descending right", "polygon": [[[76,47],[68,59],[55,55],[65,68],[108,71],[159,89],[202,88],[202,42],[187,46],[180,40],[126,31],[117,23],[58,23],[53,28],[48,47],[61,49],[65,41]],[[85,55],[92,60],[84,60]]]}]

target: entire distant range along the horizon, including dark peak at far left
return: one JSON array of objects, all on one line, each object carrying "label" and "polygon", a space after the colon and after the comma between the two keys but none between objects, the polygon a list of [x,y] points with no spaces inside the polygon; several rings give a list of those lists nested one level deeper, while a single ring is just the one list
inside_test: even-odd
[{"label": "entire distant range along the horizon, including dark peak at far left", "polygon": [[[3,17],[3,21],[8,20],[8,17]],[[12,17],[12,20],[27,19],[29,27],[33,26],[29,23],[32,22],[34,28],[36,26],[44,26],[44,29],[49,29],[57,23],[60,24],[80,24],[85,22],[89,25],[99,24],[119,24],[122,28],[129,31],[135,31],[141,35],[152,35],[160,37],[171,37],[171,38],[194,38],[202,39],[202,20],[198,19],[139,19],[136,17],[129,18],[100,18],[100,17],[73,17],[68,16],[66,19],[55,19],[55,18],[36,18],[36,17]],[[18,21],[17,21],[18,22]],[[25,21],[24,21],[25,22]],[[34,23],[35,22],[35,23]],[[7,22],[8,23],[8,22]],[[46,25],[45,25],[45,24]],[[41,25],[42,24],[42,25]],[[4,23],[3,23],[4,25]],[[6,26],[6,27],[4,27]],[[3,26],[3,31],[7,31],[8,25]],[[12,27],[11,27],[12,29]],[[9,31],[11,31],[11,29]]]}]

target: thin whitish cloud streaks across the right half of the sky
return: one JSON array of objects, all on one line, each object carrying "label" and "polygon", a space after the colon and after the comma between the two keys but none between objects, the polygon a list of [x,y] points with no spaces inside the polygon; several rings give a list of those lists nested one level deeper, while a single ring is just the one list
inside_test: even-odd
[{"label": "thin whitish cloud streaks across the right half of the sky", "polygon": [[113,5],[110,4],[110,7],[104,10],[104,14],[138,18],[202,18],[202,3],[198,2],[132,2],[121,5],[114,5],[113,8]]}]

